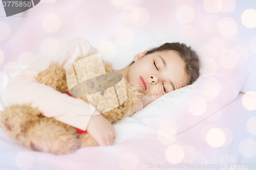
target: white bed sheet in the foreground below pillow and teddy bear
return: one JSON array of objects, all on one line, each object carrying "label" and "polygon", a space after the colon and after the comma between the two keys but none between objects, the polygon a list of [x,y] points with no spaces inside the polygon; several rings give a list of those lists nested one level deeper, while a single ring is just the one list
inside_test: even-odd
[{"label": "white bed sheet in the foreground below pillow and teddy bear", "polygon": [[[159,130],[126,117],[114,124],[113,145],[67,155],[28,151],[0,129],[0,169],[255,169],[256,137],[250,122],[256,114],[244,108],[243,95],[176,137],[164,134],[172,129]],[[211,141],[214,135],[219,138]],[[238,163],[243,167],[236,168]]]}]

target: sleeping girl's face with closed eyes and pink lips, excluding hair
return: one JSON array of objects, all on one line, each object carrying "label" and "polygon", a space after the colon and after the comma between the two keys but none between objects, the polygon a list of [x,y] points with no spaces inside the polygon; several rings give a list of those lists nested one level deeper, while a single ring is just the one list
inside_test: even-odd
[{"label": "sleeping girl's face with closed eyes and pink lips, excluding hair", "polygon": [[[184,62],[176,52],[144,54],[135,55],[135,63],[127,67],[127,81],[144,94],[140,98],[143,107],[188,83]],[[145,81],[145,88],[142,80]]]}]

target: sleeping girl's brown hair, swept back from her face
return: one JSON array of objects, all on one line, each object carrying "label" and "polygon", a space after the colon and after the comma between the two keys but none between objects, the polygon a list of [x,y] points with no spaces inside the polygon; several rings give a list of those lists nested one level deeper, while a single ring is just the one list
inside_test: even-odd
[{"label": "sleeping girl's brown hair, swept back from her face", "polygon": [[[199,57],[196,51],[192,50],[191,47],[187,47],[186,44],[180,42],[169,43],[166,42],[163,45],[158,47],[152,47],[146,51],[146,55],[155,53],[155,52],[164,52],[164,51],[175,51],[184,61],[185,63],[185,72],[188,75],[188,85],[194,83],[199,77]],[[144,57],[143,56],[143,57]],[[132,61],[126,67],[129,67],[135,63]]]}]

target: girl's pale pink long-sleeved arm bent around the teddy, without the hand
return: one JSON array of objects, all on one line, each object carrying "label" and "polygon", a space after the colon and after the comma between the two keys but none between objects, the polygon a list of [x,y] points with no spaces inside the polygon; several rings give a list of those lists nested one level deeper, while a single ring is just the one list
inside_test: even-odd
[{"label": "girl's pale pink long-sleeved arm bent around the teddy, without the hand", "polygon": [[[84,37],[77,37],[62,44],[53,52],[37,60],[13,77],[4,91],[4,99],[10,105],[31,103],[47,117],[54,117],[62,123],[85,131],[96,108],[82,99],[72,98],[50,86],[38,83],[35,76],[45,70],[50,61],[67,68],[82,54],[97,50]],[[91,110],[92,109],[92,110]]]}]

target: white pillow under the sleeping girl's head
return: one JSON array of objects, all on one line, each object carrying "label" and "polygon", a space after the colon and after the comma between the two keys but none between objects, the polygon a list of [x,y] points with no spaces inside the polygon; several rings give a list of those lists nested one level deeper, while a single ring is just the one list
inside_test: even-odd
[{"label": "white pillow under the sleeping girl's head", "polygon": [[132,117],[147,126],[166,124],[175,134],[182,133],[236,99],[247,76],[248,72],[201,75],[192,85],[161,96]]}]

